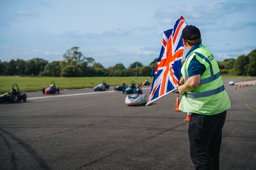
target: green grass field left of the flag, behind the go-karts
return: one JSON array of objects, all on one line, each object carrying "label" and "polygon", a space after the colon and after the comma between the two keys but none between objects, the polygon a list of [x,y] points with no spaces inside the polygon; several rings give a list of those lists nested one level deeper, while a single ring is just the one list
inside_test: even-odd
[{"label": "green grass field left of the flag, behind the go-karts", "polygon": [[10,92],[13,84],[17,84],[21,92],[39,91],[47,88],[51,81],[55,82],[56,87],[63,89],[81,89],[93,88],[101,84],[103,80],[107,81],[110,86],[121,85],[125,81],[127,85],[134,80],[136,85],[142,84],[145,80],[153,81],[150,77],[19,77],[19,76],[0,76],[0,94]]}]

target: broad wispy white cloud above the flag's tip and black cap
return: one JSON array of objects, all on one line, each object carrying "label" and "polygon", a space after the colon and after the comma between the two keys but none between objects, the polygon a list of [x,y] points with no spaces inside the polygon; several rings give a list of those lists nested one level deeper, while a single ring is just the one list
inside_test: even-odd
[{"label": "broad wispy white cloud above the flag's tip and black cap", "polygon": [[[247,26],[256,26],[256,22],[250,21],[247,18],[240,21],[234,19],[234,14],[245,12],[253,4],[225,2],[220,1],[207,5],[180,5],[171,6],[165,9],[158,9],[155,12],[155,19],[160,24],[174,24],[175,21],[182,15],[184,19],[193,25],[206,26],[208,29],[232,29],[237,30]],[[212,28],[209,28],[209,25]]]}]

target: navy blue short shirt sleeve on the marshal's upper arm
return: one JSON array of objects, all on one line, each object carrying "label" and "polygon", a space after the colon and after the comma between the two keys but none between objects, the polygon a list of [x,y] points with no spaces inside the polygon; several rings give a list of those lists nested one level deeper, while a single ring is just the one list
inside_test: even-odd
[{"label": "navy blue short shirt sleeve on the marshal's upper arm", "polygon": [[195,57],[190,61],[188,66],[188,77],[193,75],[203,75],[206,70],[205,65],[201,64]]}]

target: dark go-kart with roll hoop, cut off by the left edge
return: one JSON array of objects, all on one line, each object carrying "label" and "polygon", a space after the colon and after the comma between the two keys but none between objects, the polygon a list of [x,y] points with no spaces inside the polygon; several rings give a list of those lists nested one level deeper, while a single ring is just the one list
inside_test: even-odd
[{"label": "dark go-kart with roll hoop, cut off by the left edge", "polygon": [[[14,85],[16,85],[17,90],[14,89]],[[3,95],[0,95],[0,103],[4,103],[4,102],[11,102],[11,103],[14,103],[14,102],[21,101],[21,100],[23,100],[24,102],[26,102],[26,100],[27,100],[27,95],[26,95],[26,93],[24,93],[24,94],[22,95],[22,93],[21,93],[21,91],[19,90],[17,84],[13,84],[13,85],[12,85],[12,89],[11,89],[11,92],[10,92],[10,93],[5,93],[5,94],[3,94]]]}]

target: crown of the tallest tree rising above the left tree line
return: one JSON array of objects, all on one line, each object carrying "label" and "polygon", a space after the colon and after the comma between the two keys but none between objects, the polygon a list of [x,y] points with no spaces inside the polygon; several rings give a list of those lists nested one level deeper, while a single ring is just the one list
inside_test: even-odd
[{"label": "crown of the tallest tree rising above the left tree line", "polygon": [[76,60],[77,64],[80,65],[85,61],[84,55],[78,51],[79,47],[72,47],[70,50],[67,50],[63,55],[64,59],[71,63],[71,61]]}]

